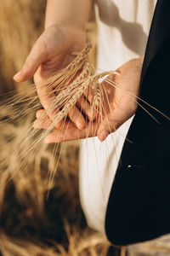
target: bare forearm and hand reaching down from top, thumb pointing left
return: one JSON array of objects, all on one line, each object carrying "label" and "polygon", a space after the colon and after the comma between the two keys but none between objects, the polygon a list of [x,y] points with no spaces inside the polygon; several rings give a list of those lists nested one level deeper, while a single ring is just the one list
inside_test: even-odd
[{"label": "bare forearm and hand reaching down from top, thumb pointing left", "polygon": [[[48,0],[45,30],[31,49],[20,72],[14,76],[15,81],[22,82],[34,76],[35,83],[39,84],[72,61],[71,53],[82,50],[86,43],[85,26],[92,1]],[[53,88],[48,88],[42,96],[37,86],[37,94],[43,108],[48,111],[54,101]],[[49,117],[54,119],[53,114]],[[80,129],[86,125],[77,107],[71,109],[69,117]]]}]

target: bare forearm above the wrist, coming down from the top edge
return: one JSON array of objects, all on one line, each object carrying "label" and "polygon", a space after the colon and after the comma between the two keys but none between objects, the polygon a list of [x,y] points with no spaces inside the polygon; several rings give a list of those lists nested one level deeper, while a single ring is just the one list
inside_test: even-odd
[{"label": "bare forearm above the wrist, coming down from the top edge", "polygon": [[45,28],[55,24],[71,24],[84,29],[93,0],[48,0]]}]

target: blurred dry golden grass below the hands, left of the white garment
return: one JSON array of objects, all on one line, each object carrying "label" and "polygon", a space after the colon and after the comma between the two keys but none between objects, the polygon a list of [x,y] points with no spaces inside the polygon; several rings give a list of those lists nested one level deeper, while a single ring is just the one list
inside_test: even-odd
[{"label": "blurred dry golden grass below the hands, left of the white garment", "polygon": [[[20,159],[14,160],[11,154],[13,143],[20,140],[19,129],[25,134],[30,122],[29,115],[1,127],[3,154],[8,155],[11,173],[4,175],[1,170],[0,251],[3,255],[106,255],[105,238],[89,230],[82,215],[77,143],[65,143],[58,149],[56,157],[62,150],[59,163],[56,157],[52,159],[54,148],[44,145],[36,157],[34,152],[29,154],[30,162],[24,170],[18,170]],[[47,170],[52,160],[54,166],[58,164],[58,172],[49,188]]]}]

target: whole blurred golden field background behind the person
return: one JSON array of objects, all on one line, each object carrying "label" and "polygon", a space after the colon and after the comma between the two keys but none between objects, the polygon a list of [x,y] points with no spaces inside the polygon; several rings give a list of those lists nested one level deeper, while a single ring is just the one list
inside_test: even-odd
[{"label": "whole blurred golden field background behind the person", "polygon": [[[4,0],[0,1],[0,94],[11,90],[25,90],[25,83],[14,83],[14,73],[20,70],[32,45],[43,30],[45,1]],[[94,48],[90,59],[95,65],[96,25],[94,13],[87,26],[87,38]],[[0,113],[4,115],[13,113]],[[35,117],[32,113],[14,123],[1,124],[0,161],[8,155],[7,166],[13,173],[3,175],[0,170],[0,255],[4,256],[106,256],[125,255],[119,250],[109,250],[105,237],[88,229],[78,196],[78,154],[77,142],[64,143],[53,156],[53,146],[42,145],[25,172],[18,170],[19,160],[11,157],[15,141],[26,132],[27,125]],[[6,142],[14,136],[14,141]],[[57,164],[58,172],[54,183],[48,187],[49,161]],[[10,182],[6,186],[6,182]],[[50,193],[48,195],[48,189]],[[167,238],[166,238],[167,239]],[[167,240],[166,240],[167,241]],[[128,255],[170,255],[167,242],[146,243],[127,248]],[[156,253],[156,254],[155,254]]]}]

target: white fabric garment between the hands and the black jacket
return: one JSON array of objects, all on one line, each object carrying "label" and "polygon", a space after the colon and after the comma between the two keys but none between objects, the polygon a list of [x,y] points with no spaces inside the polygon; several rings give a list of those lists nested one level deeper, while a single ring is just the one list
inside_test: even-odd
[{"label": "white fabric garment between the hands and the black jacket", "polygon": [[[98,0],[98,67],[114,70],[144,49],[156,0]],[[105,213],[111,185],[132,122],[127,120],[103,143],[98,138],[82,140],[80,197],[88,225],[105,233]]]}]

